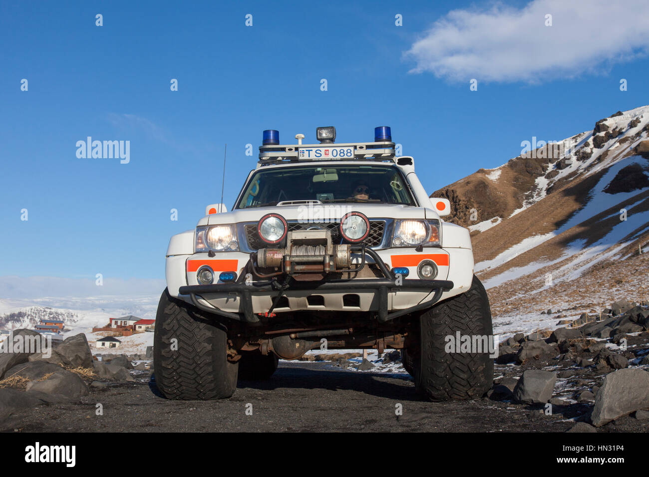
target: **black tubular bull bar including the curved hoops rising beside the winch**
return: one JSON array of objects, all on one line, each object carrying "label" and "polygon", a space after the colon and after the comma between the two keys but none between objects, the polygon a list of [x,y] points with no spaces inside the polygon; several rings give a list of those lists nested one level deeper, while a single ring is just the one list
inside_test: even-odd
[{"label": "black tubular bull bar including the curved hoops rising beside the winch", "polygon": [[[356,250],[354,250],[356,251]],[[284,294],[284,291],[287,290],[312,290],[317,291],[347,291],[347,293],[354,293],[354,291],[367,291],[373,290],[376,295],[378,295],[378,321],[385,323],[402,315],[407,315],[408,313],[417,312],[418,310],[423,310],[424,308],[429,308],[435,304],[440,298],[444,291],[448,291],[454,287],[454,284],[450,280],[421,280],[421,279],[403,279],[401,284],[397,285],[397,277],[393,276],[393,273],[387,269],[386,264],[381,260],[381,258],[374,252],[372,249],[367,249],[365,247],[360,247],[358,252],[362,254],[362,263],[358,269],[355,269],[355,272],[360,271],[365,266],[365,254],[373,258],[374,263],[378,265],[382,273],[386,278],[371,278],[371,279],[345,279],[345,280],[319,280],[319,281],[300,281],[293,278],[287,277],[284,280],[284,283],[281,283],[273,277],[272,280],[268,282],[251,282],[246,284],[244,281],[243,274],[239,277],[239,280],[236,283],[221,283],[221,284],[210,284],[210,285],[187,285],[182,286],[178,289],[180,295],[189,295],[191,302],[197,308],[204,310],[206,312],[214,313],[215,315],[220,315],[229,319],[236,321],[241,321],[249,324],[260,324],[260,318],[252,312],[252,293],[257,292],[278,292],[276,299]],[[252,271],[256,273],[254,268],[254,255],[251,254],[251,260],[248,265],[252,267]],[[247,266],[248,266],[247,265]],[[390,278],[387,278],[390,277]],[[404,310],[397,310],[395,312],[388,312],[387,310],[387,293],[389,291],[399,291],[399,290],[429,290],[430,293],[434,293],[432,299],[427,300],[426,302],[420,302],[410,308],[404,308]],[[236,293],[241,302],[241,312],[232,313],[219,310],[216,307],[207,307],[201,304],[197,299],[197,295],[204,295],[210,293]],[[273,300],[273,306],[277,300]],[[271,308],[272,310],[272,308]]]}]

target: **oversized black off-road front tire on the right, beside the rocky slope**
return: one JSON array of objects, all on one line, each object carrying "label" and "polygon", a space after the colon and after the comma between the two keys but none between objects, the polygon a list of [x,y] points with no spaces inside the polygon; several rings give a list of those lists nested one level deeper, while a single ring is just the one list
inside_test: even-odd
[{"label": "oversized black off-road front tire on the right, beside the rocky slope", "polygon": [[451,342],[447,336],[456,339],[457,332],[486,337],[493,343],[489,299],[476,276],[469,291],[440,302],[419,317],[420,347],[413,356],[413,377],[421,395],[432,400],[475,399],[491,387],[489,347],[483,348],[484,352],[447,352]]}]

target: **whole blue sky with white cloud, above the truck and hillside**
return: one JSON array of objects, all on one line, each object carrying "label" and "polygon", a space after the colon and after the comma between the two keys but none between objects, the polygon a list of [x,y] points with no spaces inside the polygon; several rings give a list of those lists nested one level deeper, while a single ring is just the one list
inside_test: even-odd
[{"label": "whole blue sky with white cloud, above the truck and hillside", "polygon": [[[219,201],[225,143],[230,208],[263,129],[389,125],[432,192],[648,104],[646,6],[562,3],[3,2],[0,276],[164,278],[169,237]],[[87,136],[130,141],[129,164],[77,158]]]}]

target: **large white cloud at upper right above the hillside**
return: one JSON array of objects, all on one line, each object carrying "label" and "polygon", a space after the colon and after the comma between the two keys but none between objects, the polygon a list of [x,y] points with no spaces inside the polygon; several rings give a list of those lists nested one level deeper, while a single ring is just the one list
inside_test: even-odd
[{"label": "large white cloud at upper right above the hillside", "polygon": [[[552,26],[546,27],[546,14]],[[453,10],[404,58],[447,80],[530,83],[597,73],[649,51],[646,0],[535,0]]]}]

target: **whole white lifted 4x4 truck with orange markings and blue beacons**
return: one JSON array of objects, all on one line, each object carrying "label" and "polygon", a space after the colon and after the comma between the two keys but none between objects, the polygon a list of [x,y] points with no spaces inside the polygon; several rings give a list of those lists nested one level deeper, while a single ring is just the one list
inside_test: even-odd
[{"label": "whole white lifted 4x4 truck with orange markings and blue beacons", "polygon": [[[389,127],[373,142],[280,145],[263,132],[259,162],[231,212],[207,206],[169,241],[154,335],[158,389],[171,399],[228,398],[278,359],[312,349],[400,349],[419,393],[478,398],[491,386],[485,289],[469,230],[443,221]],[[493,339],[493,337],[491,338]]]}]

